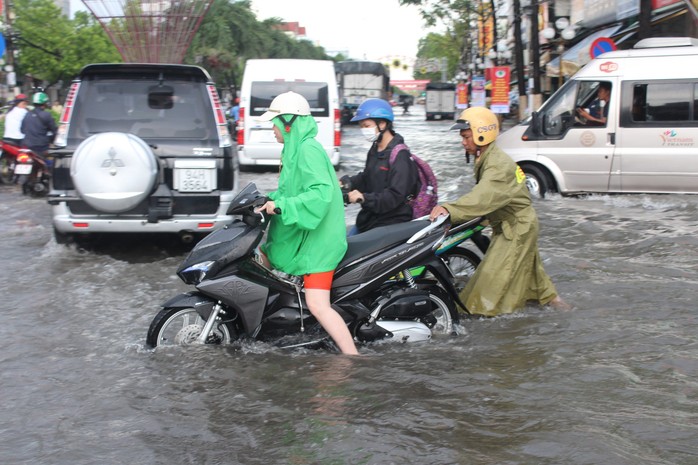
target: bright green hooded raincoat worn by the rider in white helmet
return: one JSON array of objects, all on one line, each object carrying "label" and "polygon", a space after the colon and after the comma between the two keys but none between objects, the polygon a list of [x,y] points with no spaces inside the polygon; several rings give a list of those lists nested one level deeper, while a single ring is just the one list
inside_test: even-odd
[{"label": "bright green hooded raincoat worn by the rider in white helmet", "polygon": [[[287,116],[286,119],[290,119]],[[278,190],[268,194],[280,215],[272,216],[262,251],[284,273],[304,275],[332,271],[347,250],[344,201],[334,167],[315,140],[317,123],[299,116],[284,135]]]}]

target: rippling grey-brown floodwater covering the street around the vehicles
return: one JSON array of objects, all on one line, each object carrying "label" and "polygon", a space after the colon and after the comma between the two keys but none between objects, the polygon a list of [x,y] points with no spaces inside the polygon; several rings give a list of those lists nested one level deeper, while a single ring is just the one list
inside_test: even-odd
[{"label": "rippling grey-brown floodwater covering the street around the vehicles", "polygon": [[[442,200],[472,187],[450,122],[412,107],[395,126]],[[356,127],[343,144],[339,176],[368,149]],[[159,305],[187,290],[174,274],[186,248],[59,246],[46,201],[0,185],[0,463],[697,463],[698,196],[535,205],[546,271],[572,311],[467,321],[458,337],[356,358],[149,351]]]}]

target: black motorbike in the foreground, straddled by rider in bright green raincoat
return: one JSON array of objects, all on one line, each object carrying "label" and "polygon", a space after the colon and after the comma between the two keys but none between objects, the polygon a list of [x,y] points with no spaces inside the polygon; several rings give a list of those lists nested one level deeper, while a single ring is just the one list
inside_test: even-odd
[{"label": "black motorbike in the foreground, straddled by rider in bright green raincoat", "polygon": [[[256,259],[269,218],[254,209],[266,201],[254,183],[249,184],[228,209],[229,215],[240,218],[192,249],[177,275],[196,290],[163,304],[148,329],[149,347],[230,344],[240,339],[279,347],[332,346],[305,304],[302,280],[270,270]],[[433,223],[415,220],[376,228],[348,239],[347,253],[335,270],[331,303],[357,342],[424,341],[432,334],[455,332],[460,301],[454,277],[434,253],[448,230],[447,218],[441,217]],[[410,272],[416,266],[428,269],[432,282],[417,282]]]}]

